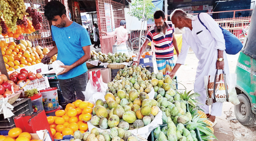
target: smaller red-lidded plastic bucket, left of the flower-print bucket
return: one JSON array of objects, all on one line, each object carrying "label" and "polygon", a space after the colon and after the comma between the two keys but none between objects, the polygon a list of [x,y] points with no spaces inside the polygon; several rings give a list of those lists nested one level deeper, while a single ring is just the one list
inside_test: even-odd
[{"label": "smaller red-lidded plastic bucket, left of the flower-print bucket", "polygon": [[44,109],[43,106],[43,99],[42,99],[42,94],[38,93],[32,97],[30,97],[31,102],[32,102],[32,108],[33,108],[33,113],[37,113],[40,110]]}]

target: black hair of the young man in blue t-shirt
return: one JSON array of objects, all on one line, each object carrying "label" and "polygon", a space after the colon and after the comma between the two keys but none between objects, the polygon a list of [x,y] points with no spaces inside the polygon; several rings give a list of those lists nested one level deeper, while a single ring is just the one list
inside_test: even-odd
[{"label": "black hair of the young man in blue t-shirt", "polygon": [[44,15],[48,21],[54,19],[54,16],[66,15],[66,7],[59,1],[50,1],[44,6]]}]

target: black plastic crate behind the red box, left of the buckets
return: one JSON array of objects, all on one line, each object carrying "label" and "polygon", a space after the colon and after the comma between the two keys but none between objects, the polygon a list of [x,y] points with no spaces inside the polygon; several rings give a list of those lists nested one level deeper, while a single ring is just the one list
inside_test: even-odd
[{"label": "black plastic crate behind the red box, left of the buckets", "polygon": [[4,119],[3,114],[0,114],[0,130],[10,130],[15,126],[14,118],[19,116],[19,114],[32,114],[33,108],[32,108],[32,102],[30,98],[24,98],[21,101],[16,101],[12,104],[14,107],[12,112],[14,113],[14,116],[10,117],[10,122],[8,119]]}]

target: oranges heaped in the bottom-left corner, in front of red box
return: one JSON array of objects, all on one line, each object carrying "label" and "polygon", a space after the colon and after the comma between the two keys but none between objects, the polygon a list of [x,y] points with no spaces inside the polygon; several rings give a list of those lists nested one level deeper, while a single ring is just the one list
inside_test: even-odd
[{"label": "oranges heaped in the bottom-left corner, in front of red box", "polygon": [[15,127],[9,130],[8,136],[0,135],[0,141],[42,141],[31,140],[31,135],[27,132],[22,132],[22,129]]}]

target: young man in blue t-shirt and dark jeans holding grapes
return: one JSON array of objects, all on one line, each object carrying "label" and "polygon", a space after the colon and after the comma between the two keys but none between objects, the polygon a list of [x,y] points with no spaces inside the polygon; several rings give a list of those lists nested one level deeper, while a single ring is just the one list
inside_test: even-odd
[{"label": "young man in blue t-shirt and dark jeans holding grapes", "polygon": [[59,85],[67,103],[75,101],[76,97],[85,100],[82,91],[87,85],[87,67],[85,61],[90,59],[90,38],[88,32],[80,24],[71,21],[66,16],[66,8],[59,1],[50,1],[45,7],[44,15],[52,22],[52,37],[56,45],[42,58],[43,63],[49,63],[49,57],[58,53],[57,60],[65,66],[58,74]]}]

